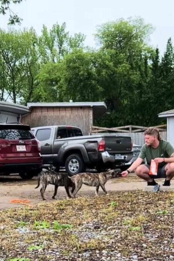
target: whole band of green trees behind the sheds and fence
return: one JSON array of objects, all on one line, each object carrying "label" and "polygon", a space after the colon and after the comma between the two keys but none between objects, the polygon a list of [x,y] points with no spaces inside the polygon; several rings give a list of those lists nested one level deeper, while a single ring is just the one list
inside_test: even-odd
[{"label": "whole band of green trees behind the sheds and fence", "polygon": [[43,26],[40,36],[33,28],[0,30],[0,100],[104,101],[109,114],[95,125],[162,124],[157,114],[174,104],[174,49],[169,38],[160,58],[148,42],[152,32],[141,18],[108,22],[97,28],[93,50],[66,23]]}]

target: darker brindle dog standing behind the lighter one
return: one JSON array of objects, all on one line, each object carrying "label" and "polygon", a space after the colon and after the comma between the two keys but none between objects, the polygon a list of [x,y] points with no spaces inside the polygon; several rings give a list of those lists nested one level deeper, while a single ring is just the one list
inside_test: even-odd
[{"label": "darker brindle dog standing behind the lighter one", "polygon": [[57,189],[59,186],[65,187],[66,193],[69,198],[71,198],[69,187],[72,188],[71,193],[73,193],[75,189],[74,183],[70,180],[70,178],[66,173],[58,173],[56,171],[51,171],[46,169],[42,170],[41,173],[39,173],[38,184],[37,187],[35,187],[35,189],[39,188],[40,183],[41,183],[40,192],[43,200],[46,200],[44,197],[44,192],[48,184],[55,185],[54,195],[52,196],[53,199],[55,199],[55,196],[57,194]]}]

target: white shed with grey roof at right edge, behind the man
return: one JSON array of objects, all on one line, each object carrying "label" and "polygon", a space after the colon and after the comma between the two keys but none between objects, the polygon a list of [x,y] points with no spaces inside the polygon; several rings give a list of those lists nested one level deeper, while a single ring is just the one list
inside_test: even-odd
[{"label": "white shed with grey roof at right edge, behind the man", "polygon": [[167,110],[159,113],[158,117],[167,118],[167,141],[174,147],[174,110]]}]

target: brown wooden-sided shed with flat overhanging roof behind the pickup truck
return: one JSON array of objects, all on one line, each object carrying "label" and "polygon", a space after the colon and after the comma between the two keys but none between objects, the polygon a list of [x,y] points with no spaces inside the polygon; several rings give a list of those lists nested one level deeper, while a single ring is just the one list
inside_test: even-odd
[{"label": "brown wooden-sided shed with flat overhanging roof behind the pickup truck", "polygon": [[72,125],[82,129],[84,135],[92,131],[93,119],[106,113],[104,102],[50,102],[28,103],[30,114],[21,122],[30,126]]}]

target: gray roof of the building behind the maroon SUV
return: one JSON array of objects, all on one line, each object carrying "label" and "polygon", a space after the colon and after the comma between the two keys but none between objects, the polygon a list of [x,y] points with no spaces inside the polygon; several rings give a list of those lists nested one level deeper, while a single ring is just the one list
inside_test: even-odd
[{"label": "gray roof of the building behind the maroon SUV", "polygon": [[0,112],[26,114],[30,113],[30,108],[12,102],[0,102]]}]

